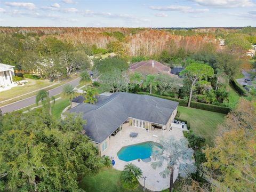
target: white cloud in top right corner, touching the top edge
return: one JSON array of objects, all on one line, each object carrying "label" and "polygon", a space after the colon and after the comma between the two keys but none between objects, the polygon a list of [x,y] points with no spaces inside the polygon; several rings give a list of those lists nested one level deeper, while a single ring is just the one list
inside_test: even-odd
[{"label": "white cloud in top right corner, touching the top edge", "polygon": [[252,0],[190,0],[203,6],[217,8],[251,7],[255,6]]}]

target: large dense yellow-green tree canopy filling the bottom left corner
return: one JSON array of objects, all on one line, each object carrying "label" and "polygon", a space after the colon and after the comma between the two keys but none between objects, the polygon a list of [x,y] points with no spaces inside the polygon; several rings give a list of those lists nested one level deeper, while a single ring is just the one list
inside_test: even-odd
[{"label": "large dense yellow-green tree canopy filling the bottom left corner", "polygon": [[86,122],[53,120],[42,109],[6,114],[0,127],[3,191],[82,191],[78,180],[101,166],[98,150],[82,134]]}]

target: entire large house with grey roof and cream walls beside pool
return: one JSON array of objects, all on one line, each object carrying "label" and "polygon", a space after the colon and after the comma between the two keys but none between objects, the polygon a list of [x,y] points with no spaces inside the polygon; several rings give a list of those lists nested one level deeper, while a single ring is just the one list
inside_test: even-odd
[{"label": "entire large house with grey roof and cream walls beside pool", "polygon": [[123,92],[100,95],[95,105],[83,100],[82,97],[74,99],[73,103],[77,105],[68,113],[82,113],[87,121],[85,134],[99,147],[101,155],[109,146],[111,137],[117,131],[122,132],[124,123],[150,131],[169,130],[179,105],[175,101]]}]

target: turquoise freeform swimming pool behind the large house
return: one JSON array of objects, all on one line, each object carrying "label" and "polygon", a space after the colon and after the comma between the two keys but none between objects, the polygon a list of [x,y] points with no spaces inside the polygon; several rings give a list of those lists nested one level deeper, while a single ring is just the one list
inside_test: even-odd
[{"label": "turquoise freeform swimming pool behind the large house", "polygon": [[138,158],[146,159],[151,156],[154,145],[159,146],[159,143],[147,141],[131,146],[125,146],[118,151],[117,156],[119,159],[126,162],[133,161]]}]

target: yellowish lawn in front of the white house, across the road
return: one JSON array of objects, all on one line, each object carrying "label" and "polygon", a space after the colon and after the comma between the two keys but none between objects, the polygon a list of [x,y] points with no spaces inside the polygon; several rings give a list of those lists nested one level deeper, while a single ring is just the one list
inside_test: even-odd
[{"label": "yellowish lawn in front of the white house, across the road", "polygon": [[0,101],[14,98],[19,95],[26,94],[31,91],[35,91],[53,84],[49,80],[34,80],[34,79],[26,79],[26,80],[28,82],[24,86],[13,87],[10,90],[0,92]]}]

